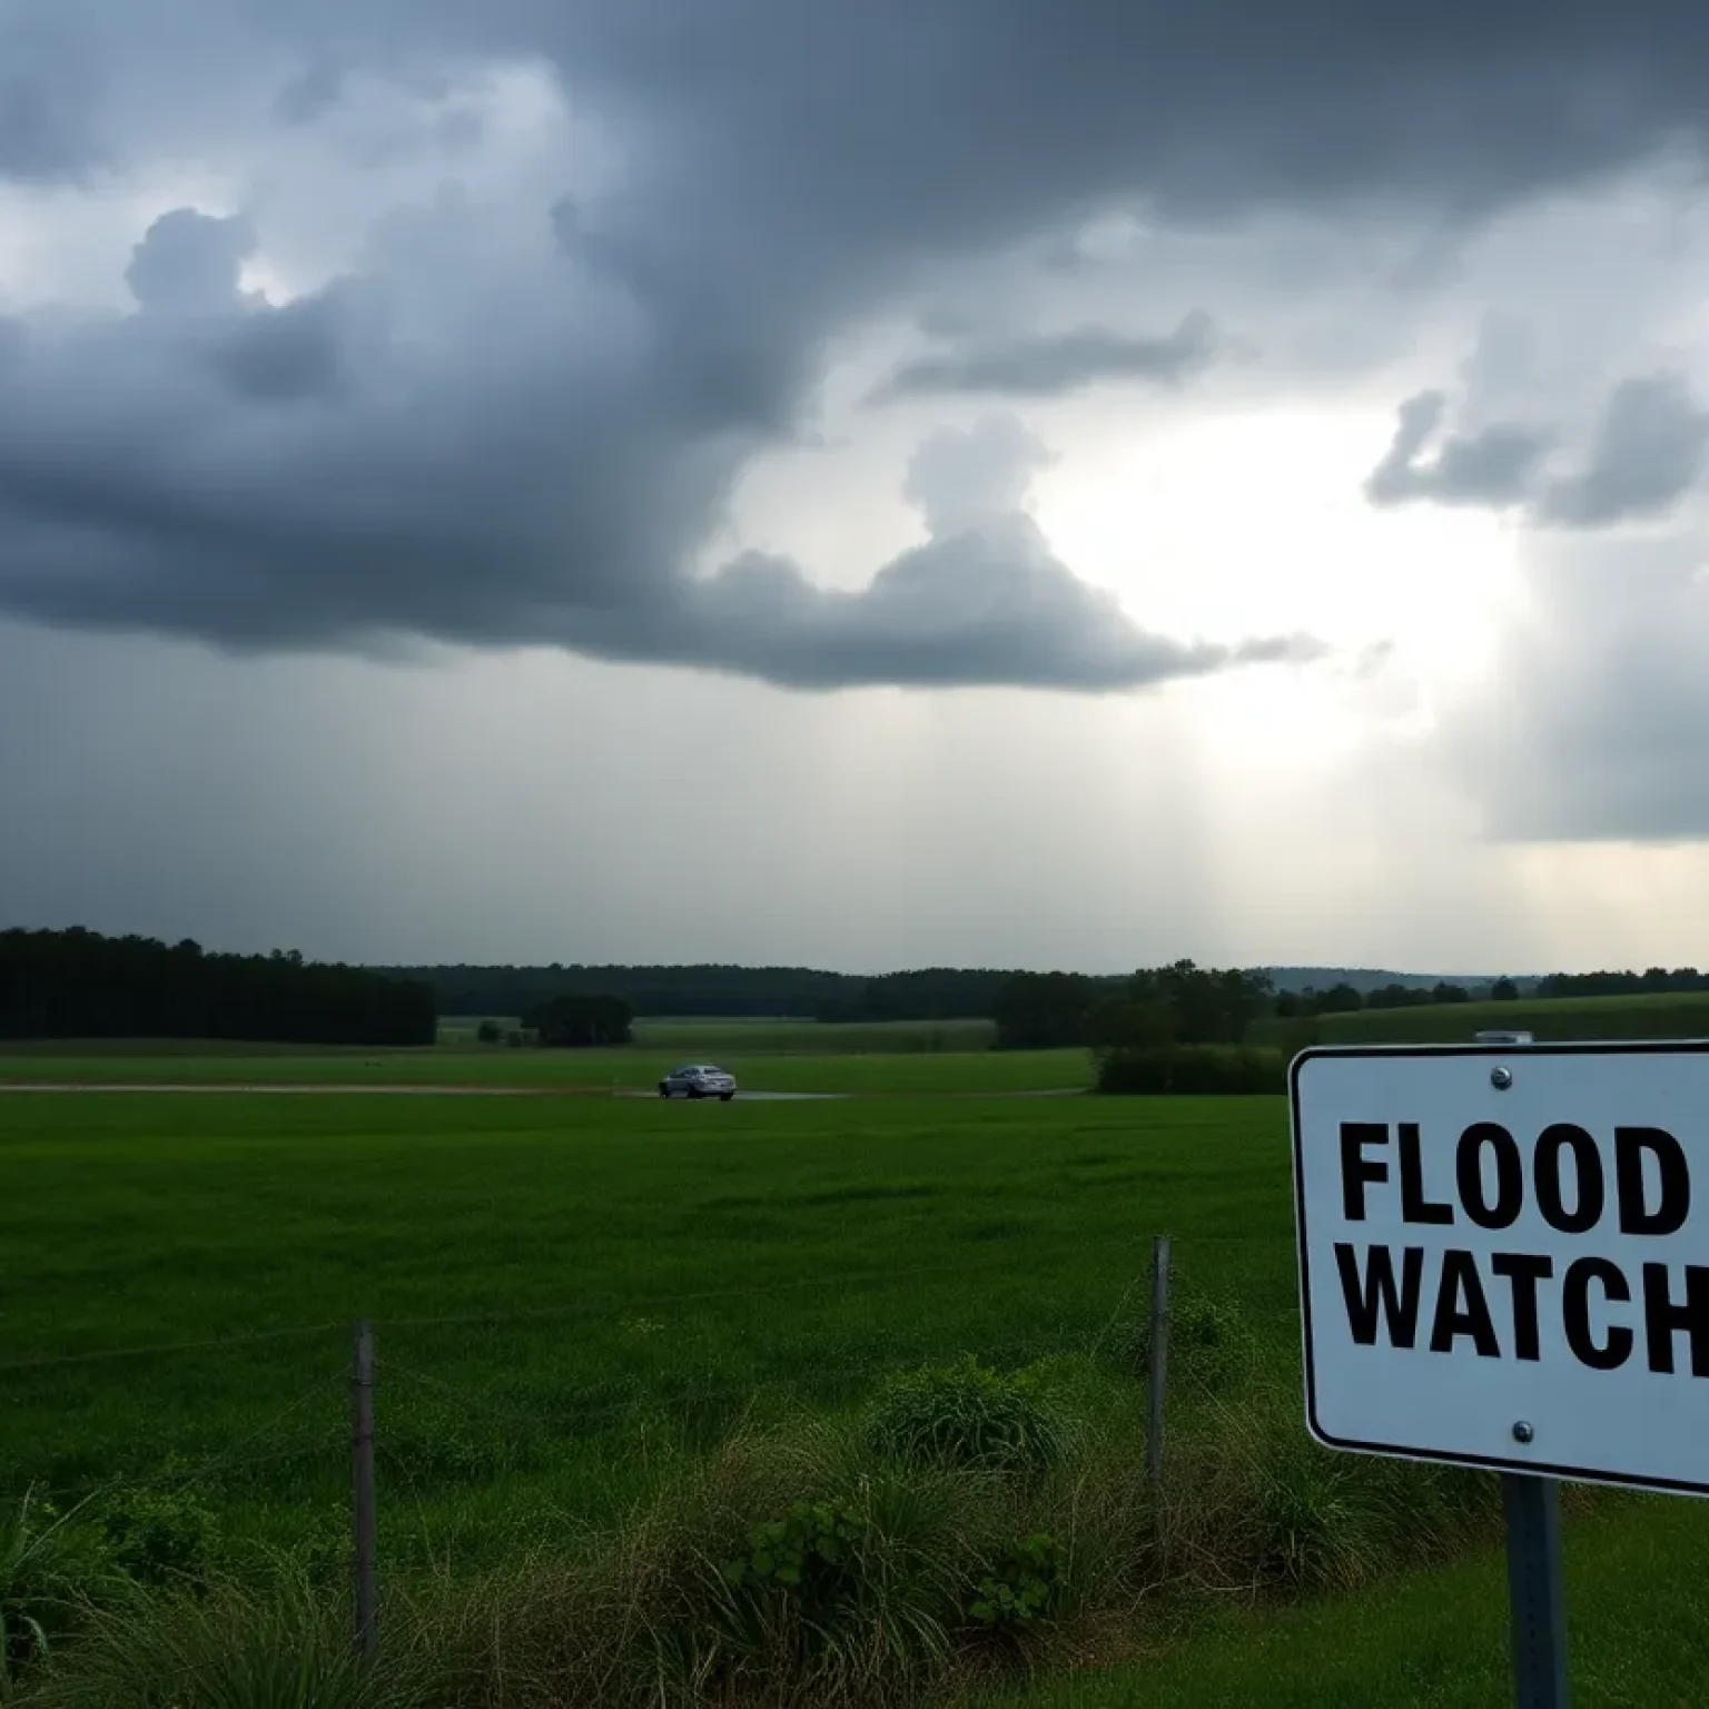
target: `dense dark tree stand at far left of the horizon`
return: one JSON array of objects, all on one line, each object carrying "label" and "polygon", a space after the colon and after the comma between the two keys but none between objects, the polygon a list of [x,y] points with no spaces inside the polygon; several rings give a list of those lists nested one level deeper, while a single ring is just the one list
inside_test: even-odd
[{"label": "dense dark tree stand at far left of the horizon", "polygon": [[0,931],[0,1037],[253,1039],[289,1044],[432,1044],[429,984],[364,967],[207,954],[185,938]]}]

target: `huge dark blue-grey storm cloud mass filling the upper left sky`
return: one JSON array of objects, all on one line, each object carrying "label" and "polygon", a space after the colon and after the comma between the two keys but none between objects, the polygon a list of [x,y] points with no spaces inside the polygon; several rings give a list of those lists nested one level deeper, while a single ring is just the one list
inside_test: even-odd
[{"label": "huge dark blue-grey storm cloud mass filling the upper left sky", "polygon": [[[436,205],[285,309],[232,299],[244,231],[156,227],[135,316],[10,357],[0,607],[248,646],[554,639],[774,680],[1085,687],[1225,660],[1136,636],[1015,523],[935,535],[854,596],[774,559],[685,574],[747,461],[800,431],[827,340],[926,263],[1118,195],[1212,222],[1489,212],[1695,135],[1709,60],[1695,0],[12,0],[5,29],[0,173],[217,164],[244,125],[291,149],[359,73],[513,55],[615,138],[622,191],[562,207],[555,273],[494,279],[467,210]],[[964,354],[962,381],[1032,393],[1143,366],[1114,340]],[[1449,475],[1502,490],[1521,453],[1465,448]]]}]

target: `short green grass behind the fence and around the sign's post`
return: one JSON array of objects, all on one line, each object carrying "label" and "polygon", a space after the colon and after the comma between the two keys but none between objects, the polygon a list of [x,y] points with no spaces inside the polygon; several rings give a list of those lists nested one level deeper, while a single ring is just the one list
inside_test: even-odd
[{"label": "short green grass behind the fence and around the sign's post", "polygon": [[[443,1085],[470,1060],[43,1053],[0,1075]],[[586,1061],[475,1060],[494,1080]],[[1008,1078],[1027,1065],[1061,1084],[1070,1063],[1084,1073],[1080,1053],[749,1065],[918,1094],[820,1104],[5,1094],[0,1494],[183,1487],[229,1535],[320,1540],[337,1567],[349,1326],[366,1316],[388,1581],[429,1559],[484,1571],[615,1524],[731,1430],[848,1412],[907,1365],[1097,1355],[1119,1383],[1159,1230],[1183,1287],[1249,1326],[1301,1441],[1282,1101],[925,1095],[1027,1089]],[[1183,1441],[1251,1400],[1208,1400],[1181,1371]],[[1138,1415],[1136,1381],[1113,1393]],[[1699,1700],[1706,1521],[1625,1497],[1572,1518],[1583,1702]],[[1114,1647],[1145,1659],[1000,1700],[1501,1700],[1487,1552],[1357,1596],[1138,1620]]]}]

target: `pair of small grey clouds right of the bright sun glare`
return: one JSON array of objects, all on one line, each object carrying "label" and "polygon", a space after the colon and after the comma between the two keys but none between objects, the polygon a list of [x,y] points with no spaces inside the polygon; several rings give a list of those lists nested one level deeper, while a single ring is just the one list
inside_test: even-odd
[{"label": "pair of small grey clouds right of the bright sun glare", "polygon": [[1442,434],[1449,398],[1420,391],[1398,412],[1388,455],[1365,480],[1372,504],[1524,506],[1550,528],[1608,528],[1665,514],[1702,479],[1709,414],[1682,374],[1620,381],[1603,403],[1581,467],[1547,477],[1562,434],[1526,422]]}]

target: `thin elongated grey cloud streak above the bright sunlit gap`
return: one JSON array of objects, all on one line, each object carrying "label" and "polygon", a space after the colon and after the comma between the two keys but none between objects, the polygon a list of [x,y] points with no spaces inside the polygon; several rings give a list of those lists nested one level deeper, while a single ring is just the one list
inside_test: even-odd
[{"label": "thin elongated grey cloud streak above the bright sunlit gap", "polygon": [[1162,337],[1131,337],[1107,326],[1082,326],[1042,337],[969,344],[914,357],[877,388],[875,402],[935,393],[1007,393],[1054,398],[1099,381],[1138,379],[1178,386],[1217,354],[1210,316],[1188,314]]}]

